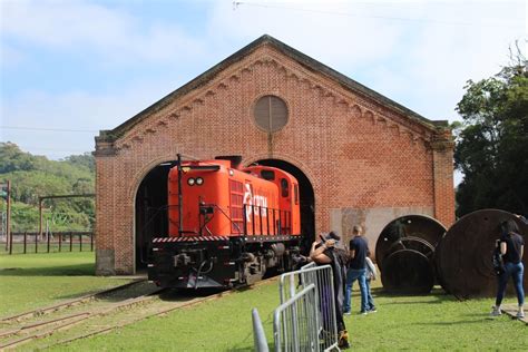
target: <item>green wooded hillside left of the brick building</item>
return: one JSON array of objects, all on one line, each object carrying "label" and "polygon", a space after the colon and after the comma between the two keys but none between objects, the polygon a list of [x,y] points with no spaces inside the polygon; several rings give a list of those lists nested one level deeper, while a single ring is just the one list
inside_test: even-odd
[{"label": "green wooded hillside left of the brick building", "polygon": [[[57,162],[0,143],[0,182],[11,180],[13,232],[38,229],[39,196],[94,193],[95,163],[88,153]],[[92,198],[47,199],[43,209],[52,232],[86,231],[95,222]]]}]

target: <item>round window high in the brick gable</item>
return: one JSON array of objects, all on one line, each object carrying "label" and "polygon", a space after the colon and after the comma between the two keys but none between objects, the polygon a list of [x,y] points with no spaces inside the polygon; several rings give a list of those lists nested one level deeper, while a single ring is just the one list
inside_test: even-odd
[{"label": "round window high in the brick gable", "polygon": [[262,129],[274,133],[287,123],[287,107],[283,99],[275,96],[264,96],[255,104],[255,123]]}]

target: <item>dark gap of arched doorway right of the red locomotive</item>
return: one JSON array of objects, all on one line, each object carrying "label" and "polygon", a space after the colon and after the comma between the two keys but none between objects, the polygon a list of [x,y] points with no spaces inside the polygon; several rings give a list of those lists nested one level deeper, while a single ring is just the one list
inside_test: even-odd
[{"label": "dark gap of arched doorway right of the red locomotive", "polygon": [[315,238],[315,197],[310,179],[299,167],[289,162],[261,159],[256,164],[277,167],[292,174],[297,179],[301,203],[301,233],[303,235],[301,252],[307,253]]}]

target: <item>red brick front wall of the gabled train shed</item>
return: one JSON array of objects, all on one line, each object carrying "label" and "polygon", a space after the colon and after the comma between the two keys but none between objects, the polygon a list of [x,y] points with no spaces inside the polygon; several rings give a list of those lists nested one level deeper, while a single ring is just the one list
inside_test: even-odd
[{"label": "red brick front wall of the gabled train shed", "polygon": [[[287,125],[268,141],[253,121],[264,95],[283,98]],[[215,79],[155,111],[105,156],[96,153],[97,248],[115,251],[115,271],[134,271],[134,204],[143,177],[180,153],[195,158],[238,154],[244,163],[277,158],[314,187],[316,232],[332,208],[434,207],[453,221],[452,146],[432,148],[433,127],[352,94],[272,47],[261,47]],[[449,139],[449,136],[443,136]],[[440,138],[441,140],[441,138]]]}]

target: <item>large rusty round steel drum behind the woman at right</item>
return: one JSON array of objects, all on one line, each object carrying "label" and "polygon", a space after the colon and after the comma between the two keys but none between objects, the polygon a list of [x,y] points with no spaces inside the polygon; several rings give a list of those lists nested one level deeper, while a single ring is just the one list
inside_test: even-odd
[{"label": "large rusty round steel drum behind the woman at right", "polygon": [[[490,297],[497,294],[497,276],[491,262],[495,243],[500,237],[500,223],[515,219],[520,235],[528,241],[528,225],[511,213],[482,209],[456,222],[439,243],[434,264],[442,287],[460,300]],[[525,245],[526,248],[526,245]],[[525,250],[522,262],[528,263]],[[525,274],[525,287],[528,287]],[[508,284],[512,292],[512,283]]]}]

